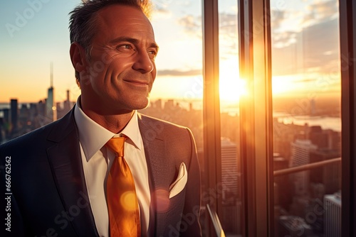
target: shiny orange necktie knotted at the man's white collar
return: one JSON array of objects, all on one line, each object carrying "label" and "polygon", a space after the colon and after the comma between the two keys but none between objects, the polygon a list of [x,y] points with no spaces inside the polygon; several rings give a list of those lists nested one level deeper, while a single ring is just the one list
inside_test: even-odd
[{"label": "shiny orange necktie knotted at the man's white collar", "polygon": [[105,145],[115,153],[106,183],[110,236],[141,236],[135,181],[124,159],[125,138],[111,138]]}]

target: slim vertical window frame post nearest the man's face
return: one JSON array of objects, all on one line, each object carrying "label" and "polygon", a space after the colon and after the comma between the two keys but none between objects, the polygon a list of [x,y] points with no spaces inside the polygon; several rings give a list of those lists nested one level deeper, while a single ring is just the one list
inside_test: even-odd
[{"label": "slim vertical window frame post nearest the man's face", "polygon": [[[217,184],[221,183],[221,128],[219,100],[219,13],[218,0],[202,0],[203,30],[203,136],[204,136],[204,177],[209,195],[219,197]],[[218,216],[222,206],[219,199],[214,198],[211,204]],[[205,206],[204,206],[205,209]],[[209,216],[206,212],[206,216]],[[205,220],[208,236],[214,233],[214,227]]]}]

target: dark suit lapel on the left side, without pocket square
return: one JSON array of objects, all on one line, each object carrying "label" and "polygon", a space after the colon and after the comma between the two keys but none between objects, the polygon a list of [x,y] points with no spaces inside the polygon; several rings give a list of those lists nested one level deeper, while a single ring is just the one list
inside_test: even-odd
[{"label": "dark suit lapel on the left side, without pocket square", "polygon": [[54,144],[47,149],[58,194],[78,236],[98,236],[88,199],[80,158],[74,110],[61,118],[48,136]]}]

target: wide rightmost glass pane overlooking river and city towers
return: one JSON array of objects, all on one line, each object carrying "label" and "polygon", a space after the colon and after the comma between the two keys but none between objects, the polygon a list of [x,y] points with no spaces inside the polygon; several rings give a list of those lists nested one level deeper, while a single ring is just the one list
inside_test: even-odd
[{"label": "wide rightmost glass pane overlooking river and city towers", "polygon": [[340,236],[337,0],[271,0],[276,236]]}]

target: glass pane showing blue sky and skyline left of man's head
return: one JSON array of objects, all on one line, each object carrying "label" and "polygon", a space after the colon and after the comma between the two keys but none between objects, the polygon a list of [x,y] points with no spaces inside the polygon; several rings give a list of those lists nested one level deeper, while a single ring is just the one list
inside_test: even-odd
[{"label": "glass pane showing blue sky and skyline left of man's head", "polygon": [[0,143],[61,118],[80,94],[68,31],[80,1],[63,3],[0,3]]}]

